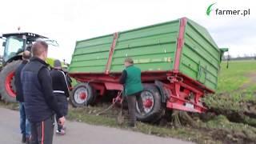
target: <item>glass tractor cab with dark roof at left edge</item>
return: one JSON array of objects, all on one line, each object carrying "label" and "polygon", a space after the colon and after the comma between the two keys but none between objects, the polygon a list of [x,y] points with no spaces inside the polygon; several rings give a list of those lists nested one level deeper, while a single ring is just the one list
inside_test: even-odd
[{"label": "glass tractor cab with dark roof at left edge", "polygon": [[33,33],[14,33],[2,34],[1,38],[3,40],[2,46],[4,47],[2,64],[5,66],[8,62],[20,59],[26,47],[32,45],[38,38],[46,37]]}]

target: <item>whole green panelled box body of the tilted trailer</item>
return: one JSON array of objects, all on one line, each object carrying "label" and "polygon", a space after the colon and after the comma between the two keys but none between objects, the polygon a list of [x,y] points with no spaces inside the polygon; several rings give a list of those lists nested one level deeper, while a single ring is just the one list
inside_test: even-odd
[{"label": "whole green panelled box body of the tilted trailer", "polygon": [[[111,72],[122,72],[126,57],[134,59],[142,71],[174,69],[179,19],[118,34]],[[78,41],[70,64],[70,73],[104,73],[113,42],[113,34]],[[182,74],[216,90],[220,50],[208,31],[188,19],[179,70]]]}]

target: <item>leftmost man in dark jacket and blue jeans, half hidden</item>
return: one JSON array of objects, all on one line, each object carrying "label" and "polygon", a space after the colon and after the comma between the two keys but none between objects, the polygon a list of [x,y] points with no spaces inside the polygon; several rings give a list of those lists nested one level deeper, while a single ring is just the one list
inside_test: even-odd
[{"label": "leftmost man in dark jacket and blue jeans, half hidden", "polygon": [[20,129],[22,131],[22,142],[30,143],[30,122],[26,118],[24,98],[22,92],[21,72],[23,67],[29,62],[30,52],[24,51],[22,54],[22,64],[15,71],[14,85],[16,87],[16,100],[19,102]]}]

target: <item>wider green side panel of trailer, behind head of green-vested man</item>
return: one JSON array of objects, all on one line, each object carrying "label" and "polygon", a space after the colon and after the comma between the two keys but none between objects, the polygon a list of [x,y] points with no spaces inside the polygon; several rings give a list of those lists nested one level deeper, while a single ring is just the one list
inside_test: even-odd
[{"label": "wider green side panel of trailer, behind head of green-vested man", "polygon": [[178,28],[177,20],[120,33],[110,71],[122,71],[126,57],[142,71],[172,70]]}]

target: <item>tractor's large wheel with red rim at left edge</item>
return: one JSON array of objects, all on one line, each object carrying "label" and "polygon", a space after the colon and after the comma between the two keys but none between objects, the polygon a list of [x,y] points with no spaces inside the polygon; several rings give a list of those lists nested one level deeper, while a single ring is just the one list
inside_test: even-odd
[{"label": "tractor's large wheel with red rim at left edge", "polygon": [[22,61],[14,61],[2,67],[0,72],[0,95],[5,102],[16,102],[16,88],[14,86],[15,70]]}]

